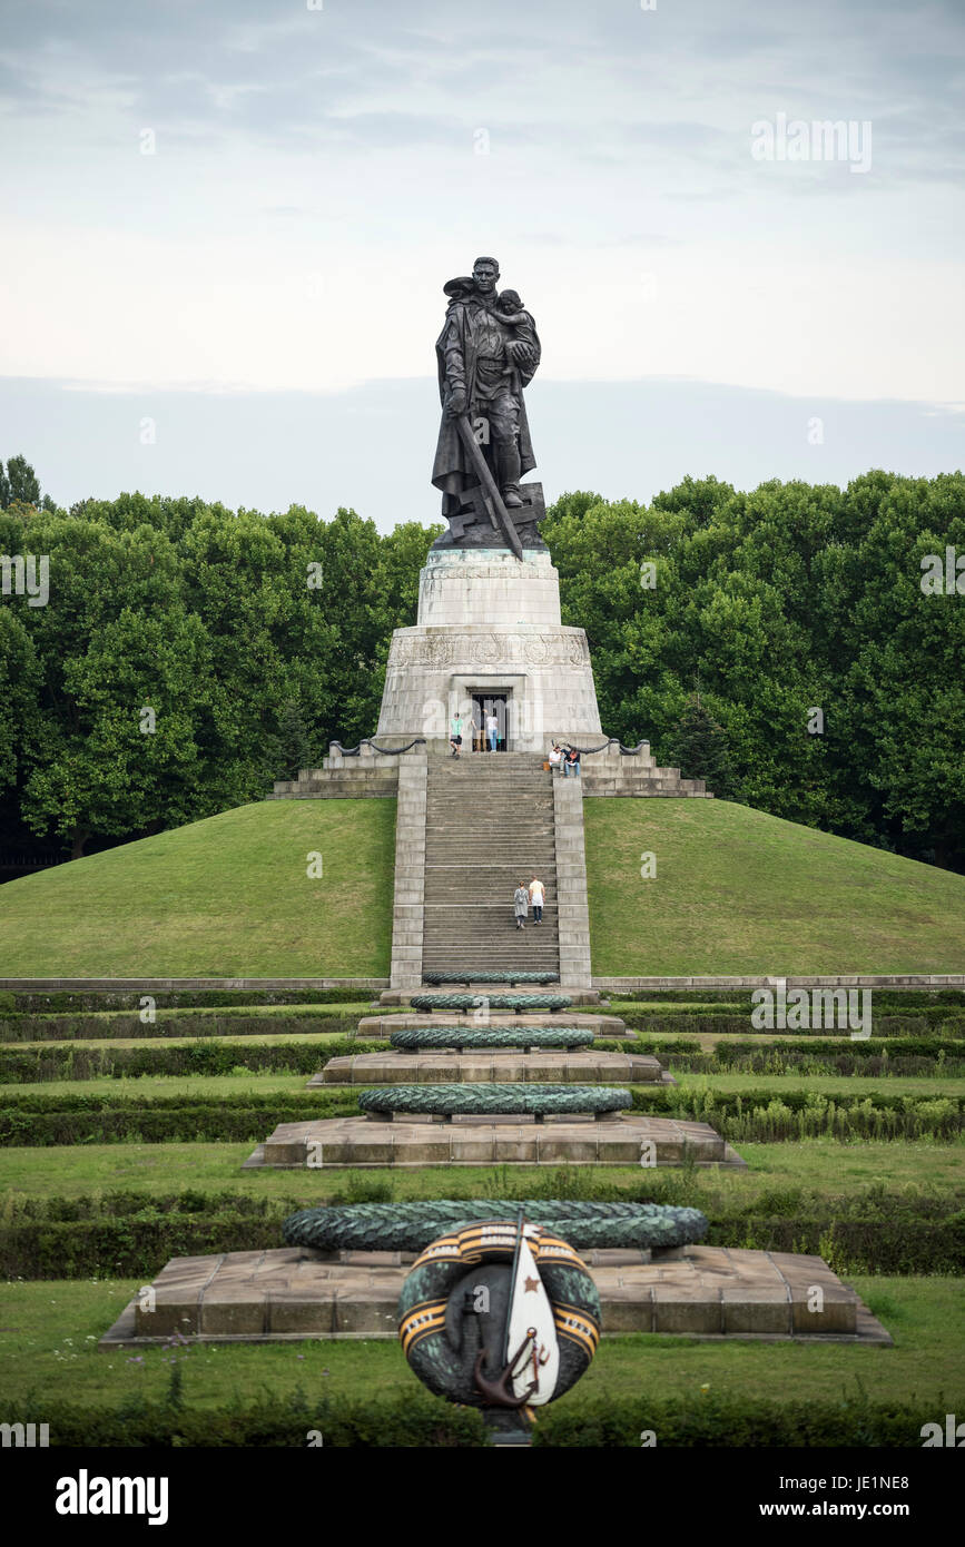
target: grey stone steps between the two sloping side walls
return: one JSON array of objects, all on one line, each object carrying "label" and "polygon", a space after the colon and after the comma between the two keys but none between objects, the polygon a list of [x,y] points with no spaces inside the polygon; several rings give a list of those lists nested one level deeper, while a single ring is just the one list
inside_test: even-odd
[{"label": "grey stone steps between the two sloping side walls", "polygon": [[[424,972],[558,972],[552,774],[534,752],[431,760],[425,809]],[[523,931],[520,880],[546,888],[543,924]]]}]

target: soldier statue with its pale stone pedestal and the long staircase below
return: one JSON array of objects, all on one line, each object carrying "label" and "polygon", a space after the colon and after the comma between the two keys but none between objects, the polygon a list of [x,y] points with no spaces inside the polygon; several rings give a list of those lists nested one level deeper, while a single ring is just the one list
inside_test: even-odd
[{"label": "soldier statue with its pale stone pedestal and the long staircase below", "polygon": [[[416,625],[393,633],[377,730],[353,747],[332,741],[322,769],[274,789],[275,800],[396,800],[394,996],[439,973],[469,984],[549,973],[589,993],[585,797],[708,795],[702,780],[657,767],[646,741],[603,735],[586,634],[563,625],[543,490],[527,481],[540,336],[498,282],[496,260],[479,257],[442,286],[431,483],[447,529],[419,574]],[[554,741],[574,753],[555,774]],[[520,865],[546,902],[532,930],[513,919]]]}]

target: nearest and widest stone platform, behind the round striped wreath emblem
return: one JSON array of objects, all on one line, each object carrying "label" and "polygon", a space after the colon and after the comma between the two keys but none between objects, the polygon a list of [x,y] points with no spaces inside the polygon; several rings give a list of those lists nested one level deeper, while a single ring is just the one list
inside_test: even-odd
[{"label": "nearest and widest stone platform, behind the round striped wreath emblem", "polygon": [[[817,1256],[704,1245],[653,1259],[622,1250],[581,1256],[600,1290],[605,1337],[891,1344],[857,1293]],[[99,1347],[142,1347],[176,1332],[204,1343],[396,1338],[396,1304],[413,1258],[306,1247],[173,1258],[153,1296],[131,1299]],[[821,1309],[809,1309],[818,1303]]]}]

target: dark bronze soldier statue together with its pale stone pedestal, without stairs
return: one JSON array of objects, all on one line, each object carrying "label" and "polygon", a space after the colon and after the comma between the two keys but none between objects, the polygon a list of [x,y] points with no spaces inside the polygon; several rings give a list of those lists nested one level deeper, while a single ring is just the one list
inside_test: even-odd
[{"label": "dark bronze soldier statue together with its pale stone pedestal, without stairs", "polygon": [[600,744],[586,634],[563,627],[540,537],[543,489],[521,481],[535,467],[524,390],[540,339],[520,295],[500,292],[498,280],[496,260],[481,257],[472,275],[444,285],[431,481],[448,531],[421,572],[416,627],[393,634],[379,746],[424,736],[430,750],[445,747],[456,715],[479,729],[495,716],[507,752],[541,752],[551,738]]}]

